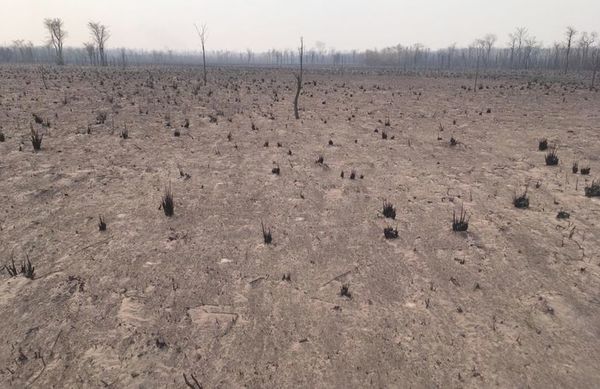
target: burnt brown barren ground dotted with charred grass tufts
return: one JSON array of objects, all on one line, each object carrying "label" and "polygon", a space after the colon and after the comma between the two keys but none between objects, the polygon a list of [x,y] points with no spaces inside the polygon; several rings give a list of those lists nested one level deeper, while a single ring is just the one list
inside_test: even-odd
[{"label": "burnt brown barren ground dotted with charred grass tufts", "polygon": [[309,70],[295,120],[291,69],[201,80],[0,68],[0,387],[600,385],[597,91]]}]

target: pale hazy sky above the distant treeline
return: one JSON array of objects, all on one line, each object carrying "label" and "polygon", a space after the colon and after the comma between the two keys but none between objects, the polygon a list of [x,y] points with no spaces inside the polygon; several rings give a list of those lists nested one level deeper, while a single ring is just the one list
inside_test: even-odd
[{"label": "pale hazy sky above the distant treeline", "polygon": [[207,50],[294,48],[304,36],[338,50],[423,43],[468,45],[524,26],[546,45],[565,26],[600,32],[600,0],[0,0],[0,44],[44,42],[42,20],[60,17],[67,46],[89,41],[86,23],[109,26],[109,47],[197,50],[193,23],[206,23]]}]

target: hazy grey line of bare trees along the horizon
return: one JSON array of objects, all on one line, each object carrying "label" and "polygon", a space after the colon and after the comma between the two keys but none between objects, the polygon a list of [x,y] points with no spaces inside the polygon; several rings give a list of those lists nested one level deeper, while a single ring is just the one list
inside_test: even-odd
[{"label": "hazy grey line of bare trees along the horizon", "polygon": [[[512,36],[512,35],[511,35]],[[455,45],[445,49],[429,49],[420,44],[397,45],[380,50],[341,52],[335,50],[305,50],[304,63],[314,66],[384,66],[402,70],[413,69],[531,69],[531,70],[594,70],[600,62],[600,46],[591,39],[573,41],[571,47],[555,44],[542,47],[535,39],[512,41],[510,47],[494,47],[495,37],[486,36],[466,48]],[[509,42],[510,43],[510,42]],[[207,63],[212,65],[290,66],[299,62],[297,50],[266,52],[207,51]],[[64,48],[64,62],[75,65],[98,65],[97,52],[86,47]],[[0,63],[55,62],[51,47],[34,46],[15,41],[0,46]],[[107,49],[108,66],[146,64],[201,64],[201,52],[146,51]]]}]

